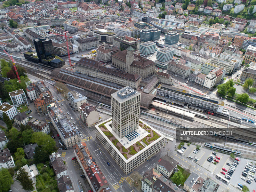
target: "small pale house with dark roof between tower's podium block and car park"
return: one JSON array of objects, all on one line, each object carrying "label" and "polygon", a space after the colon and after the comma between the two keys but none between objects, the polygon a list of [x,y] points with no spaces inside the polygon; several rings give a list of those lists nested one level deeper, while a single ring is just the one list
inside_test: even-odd
[{"label": "small pale house with dark roof between tower's podium block and car park", "polygon": [[177,165],[177,161],[175,161],[172,157],[165,155],[158,160],[156,170],[162,173],[166,178],[170,178],[174,168],[176,168]]}]

